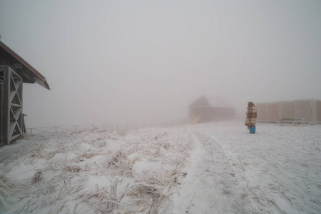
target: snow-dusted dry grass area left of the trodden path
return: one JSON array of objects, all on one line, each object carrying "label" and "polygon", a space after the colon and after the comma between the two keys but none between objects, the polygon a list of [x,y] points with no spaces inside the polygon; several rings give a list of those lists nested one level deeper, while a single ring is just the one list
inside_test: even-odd
[{"label": "snow-dusted dry grass area left of the trodden path", "polygon": [[6,213],[162,213],[193,151],[185,127],[75,132],[0,165]]}]

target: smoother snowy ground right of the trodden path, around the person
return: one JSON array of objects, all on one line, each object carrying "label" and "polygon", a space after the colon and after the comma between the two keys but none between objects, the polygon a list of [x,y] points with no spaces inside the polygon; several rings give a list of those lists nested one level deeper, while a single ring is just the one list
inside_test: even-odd
[{"label": "smoother snowy ground right of the trodden path, around the person", "polygon": [[193,128],[223,149],[248,213],[321,213],[320,125],[258,124],[255,135],[235,122]]}]

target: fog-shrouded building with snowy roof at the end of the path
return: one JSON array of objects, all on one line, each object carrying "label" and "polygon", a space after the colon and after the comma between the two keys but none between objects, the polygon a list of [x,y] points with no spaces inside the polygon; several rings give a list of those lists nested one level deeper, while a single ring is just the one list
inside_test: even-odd
[{"label": "fog-shrouded building with snowy roof at the end of the path", "polygon": [[217,97],[201,96],[188,106],[189,121],[192,124],[234,119],[235,114],[235,107]]}]

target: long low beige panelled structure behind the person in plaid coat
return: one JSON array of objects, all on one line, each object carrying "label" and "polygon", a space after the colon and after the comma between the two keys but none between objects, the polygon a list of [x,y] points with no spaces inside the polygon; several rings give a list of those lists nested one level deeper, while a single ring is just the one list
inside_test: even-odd
[{"label": "long low beige panelled structure behind the person in plaid coat", "polygon": [[321,123],[321,101],[315,99],[255,103],[258,122]]}]

